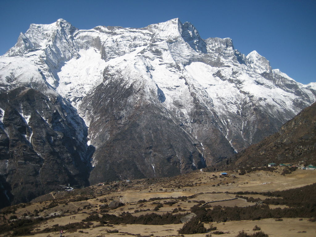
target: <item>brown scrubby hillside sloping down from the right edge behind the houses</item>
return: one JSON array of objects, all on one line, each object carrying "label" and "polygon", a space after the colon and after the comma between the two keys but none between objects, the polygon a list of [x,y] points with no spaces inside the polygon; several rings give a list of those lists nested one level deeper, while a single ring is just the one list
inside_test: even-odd
[{"label": "brown scrubby hillside sloping down from the right edge behind the houses", "polygon": [[275,134],[251,145],[232,160],[237,167],[266,166],[268,163],[316,164],[316,103],[285,123]]}]

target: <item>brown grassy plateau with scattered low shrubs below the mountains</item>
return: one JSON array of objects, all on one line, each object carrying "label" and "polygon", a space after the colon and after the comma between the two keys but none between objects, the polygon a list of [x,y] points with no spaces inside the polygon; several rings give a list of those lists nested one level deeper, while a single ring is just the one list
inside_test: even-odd
[{"label": "brown grassy plateau with scattered low shrubs below the mountains", "polygon": [[[278,167],[273,172],[252,171],[245,175],[228,171],[229,176],[222,178],[219,177],[220,172],[194,172],[171,178],[131,180],[129,183],[120,181],[101,186],[93,185],[74,191],[56,191],[38,197],[31,203],[2,209],[0,214],[2,227],[17,223],[15,218],[27,220],[34,220],[36,216],[48,218],[32,223],[28,229],[29,234],[27,231],[23,234],[23,230],[15,232],[20,228],[16,227],[8,231],[2,230],[0,236],[57,236],[61,229],[60,226],[67,224],[68,227],[63,228],[65,237],[179,236],[178,230],[182,228],[183,223],[144,225],[107,222],[102,224],[99,221],[89,223],[82,222],[82,220],[91,214],[101,217],[106,213],[116,216],[123,216],[127,212],[133,216],[147,213],[184,215],[191,213],[194,205],[202,206],[208,202],[211,202],[207,206],[207,209],[210,210],[216,205],[247,207],[257,204],[247,202],[242,198],[234,199],[236,196],[233,194],[234,192],[282,191],[316,183],[316,170],[296,170],[290,174],[281,175],[283,169],[283,167]],[[261,194],[242,196],[261,200],[268,198]],[[182,199],[178,197],[182,197]],[[150,198],[151,200],[149,200]],[[112,201],[121,202],[124,205],[109,209],[107,205]],[[157,208],[159,203],[161,203],[161,207]],[[287,207],[286,205],[269,206],[270,209]],[[211,236],[234,237],[241,230],[248,234],[255,233],[256,231],[252,230],[255,225],[269,236],[316,236],[316,222],[308,221],[309,218],[282,218],[283,221],[275,221],[276,218],[231,221],[229,216],[227,217],[226,222],[204,222],[205,228],[209,228],[213,224],[217,228],[216,231],[222,231],[224,234],[217,235],[214,231],[208,231],[204,234],[185,234],[184,236],[204,237],[211,234]],[[70,224],[76,222],[79,224],[71,227]],[[82,223],[80,224],[80,222]],[[82,228],[84,223],[88,224]]]}]

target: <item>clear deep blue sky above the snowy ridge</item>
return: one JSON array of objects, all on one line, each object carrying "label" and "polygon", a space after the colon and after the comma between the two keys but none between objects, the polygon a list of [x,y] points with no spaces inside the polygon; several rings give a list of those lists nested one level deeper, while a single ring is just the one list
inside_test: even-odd
[{"label": "clear deep blue sky above the snowy ridge", "polygon": [[203,39],[231,38],[243,54],[256,50],[298,82],[316,82],[316,0],[0,0],[0,55],[31,23],[59,18],[79,29],[145,27],[179,18]]}]

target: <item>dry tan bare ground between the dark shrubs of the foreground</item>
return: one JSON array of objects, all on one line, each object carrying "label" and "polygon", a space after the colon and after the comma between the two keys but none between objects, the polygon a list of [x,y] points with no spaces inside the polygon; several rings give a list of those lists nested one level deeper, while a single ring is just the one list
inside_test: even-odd
[{"label": "dry tan bare ground between the dark shrubs of the foreground", "polygon": [[[246,202],[244,199],[234,199],[234,194],[225,193],[237,192],[237,191],[276,191],[276,190],[286,190],[290,188],[297,188],[305,185],[310,185],[316,183],[316,170],[296,170],[295,172],[287,175],[281,175],[283,168],[278,168],[277,172],[269,171],[256,171],[247,173],[245,175],[238,175],[238,173],[228,172],[229,177],[219,178],[219,172],[196,172],[180,175],[173,178],[160,179],[156,183],[148,184],[145,180],[132,180],[133,185],[130,188],[116,190],[112,192],[105,192],[106,185],[96,186],[92,188],[100,193],[106,193],[104,195],[90,195],[88,200],[71,202],[66,200],[58,200],[59,205],[50,209],[46,209],[39,213],[40,216],[47,216],[49,214],[53,215],[62,214],[63,217],[56,217],[38,224],[35,228],[36,231],[43,230],[47,227],[52,227],[53,225],[66,225],[68,223],[80,222],[82,219],[90,215],[91,212],[99,212],[100,204],[109,204],[112,200],[117,200],[124,203],[124,206],[110,210],[109,214],[119,215],[123,211],[130,212],[132,215],[139,216],[146,213],[157,213],[164,214],[167,212],[172,212],[175,208],[181,208],[185,210],[178,213],[190,213],[190,208],[197,204],[198,201],[212,202],[210,205],[222,205],[222,206],[239,206],[245,207],[249,205],[255,205],[255,203]],[[217,178],[216,178],[217,176]],[[235,176],[235,177],[234,177]],[[215,186],[217,185],[217,186]],[[65,191],[64,191],[65,192]],[[222,193],[212,193],[212,192],[222,192]],[[35,209],[40,210],[43,207],[47,207],[54,200],[54,195],[51,194],[52,200],[46,200],[42,202],[35,202],[27,205],[26,207],[19,208],[15,211],[17,217],[26,216],[25,213],[33,213]],[[177,203],[170,205],[164,204],[158,211],[154,211],[156,204],[153,202],[168,202],[174,201],[171,199],[163,199],[156,201],[149,201],[149,198],[166,198],[166,197],[180,197],[186,196],[190,197],[186,200],[177,200]],[[88,195],[89,196],[89,195]],[[88,197],[87,196],[87,197]],[[262,195],[243,195],[254,198],[265,199]],[[71,197],[74,198],[74,197]],[[104,202],[106,198],[106,202]],[[138,200],[146,199],[143,203],[138,203]],[[56,199],[55,199],[56,200]],[[270,208],[286,206],[274,206],[270,205]],[[149,210],[148,210],[149,209]],[[139,212],[135,212],[135,210]],[[82,213],[86,212],[86,213]],[[7,219],[13,215],[8,213],[5,215]],[[73,219],[75,216],[76,219]],[[100,214],[101,216],[101,214]],[[3,219],[0,220],[3,223]],[[99,222],[94,222],[94,225],[99,224]],[[290,237],[290,236],[316,236],[316,222],[309,222],[307,218],[299,220],[299,218],[283,218],[283,221],[276,222],[275,219],[261,219],[256,221],[227,221],[225,223],[213,223],[217,227],[217,230],[225,232],[218,236],[223,237],[234,237],[239,231],[244,230],[248,234],[252,234],[255,225],[258,225],[265,234],[269,234],[270,237]],[[65,231],[64,236],[66,237],[79,237],[79,236],[135,236],[135,235],[145,235],[145,236],[178,236],[177,230],[180,229],[183,224],[170,224],[170,225],[113,225],[104,227],[94,227],[88,229],[78,229],[76,232]],[[209,223],[204,223],[206,228],[209,227]],[[91,225],[93,227],[93,225]],[[119,233],[107,233],[107,230],[118,230]],[[80,233],[78,231],[82,231]],[[306,231],[306,233],[302,233]],[[300,233],[299,233],[300,232]],[[212,233],[212,232],[210,232]],[[41,233],[34,234],[36,237],[46,237],[57,236],[58,232],[51,233]],[[204,234],[194,234],[185,236],[206,236],[208,233]],[[1,235],[1,236],[5,236]],[[212,234],[212,236],[217,236]]]}]

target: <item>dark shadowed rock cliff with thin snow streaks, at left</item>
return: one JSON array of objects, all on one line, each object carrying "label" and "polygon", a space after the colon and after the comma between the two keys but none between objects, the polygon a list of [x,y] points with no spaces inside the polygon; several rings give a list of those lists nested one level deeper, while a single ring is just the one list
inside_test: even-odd
[{"label": "dark shadowed rock cliff with thin snow streaks, at left", "polygon": [[13,203],[28,202],[59,184],[88,185],[87,128],[60,96],[19,87],[0,94],[0,107],[5,111],[1,183],[11,186],[7,196],[14,196]]}]

